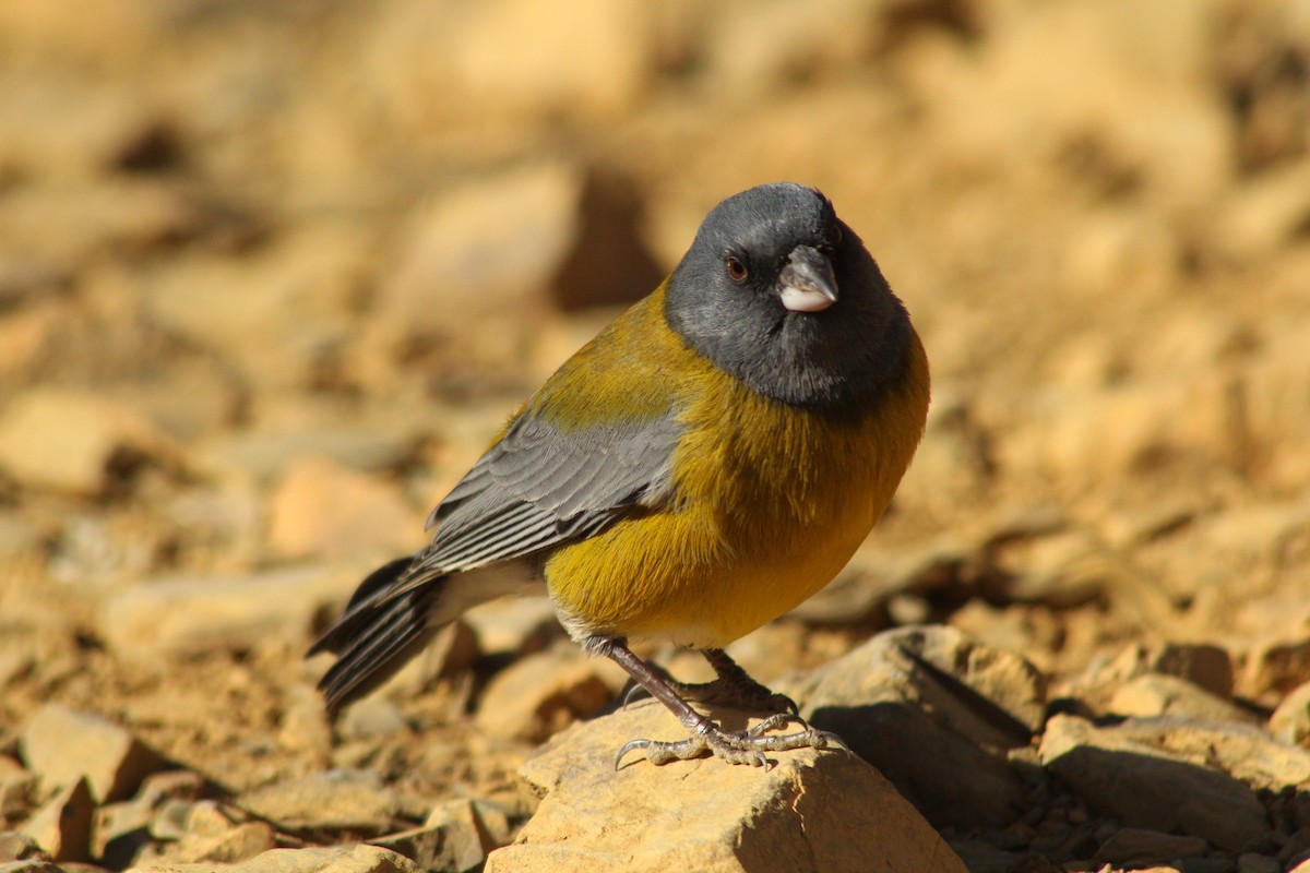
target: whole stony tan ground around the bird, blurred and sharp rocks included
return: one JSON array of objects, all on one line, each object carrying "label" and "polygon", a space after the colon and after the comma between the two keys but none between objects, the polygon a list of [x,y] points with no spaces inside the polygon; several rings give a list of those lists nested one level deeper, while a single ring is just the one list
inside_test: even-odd
[{"label": "whole stony tan ground around the bird, blurred and sharp rocks included", "polygon": [[[0,870],[1307,869],[1307,143],[1298,0],[0,4]],[[527,601],[329,722],[355,581],[776,179],[934,370],[732,649],[853,754],[614,772],[677,725]]]}]

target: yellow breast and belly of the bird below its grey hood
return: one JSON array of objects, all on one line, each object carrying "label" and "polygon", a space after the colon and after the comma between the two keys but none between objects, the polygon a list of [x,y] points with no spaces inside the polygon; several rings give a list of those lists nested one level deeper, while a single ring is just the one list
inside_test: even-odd
[{"label": "yellow breast and belly of the bird below its grey hood", "polygon": [[723,647],[832,581],[891,501],[927,412],[917,338],[908,378],[834,421],[706,374],[681,416],[677,499],[567,546],[545,565],[575,637]]}]

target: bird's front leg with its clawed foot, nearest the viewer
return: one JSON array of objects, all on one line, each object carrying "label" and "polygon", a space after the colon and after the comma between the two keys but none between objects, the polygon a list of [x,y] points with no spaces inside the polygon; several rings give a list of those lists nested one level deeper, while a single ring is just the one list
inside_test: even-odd
[{"label": "bird's front leg with its clawed foot, nearest the viewer", "polygon": [[[634,750],[646,751],[646,759],[652,764],[664,764],[671,760],[688,760],[713,754],[731,764],[752,764],[755,767],[768,767],[766,751],[787,751],[790,749],[846,749],[846,745],[832,733],[806,728],[795,733],[772,734],[791,717],[789,713],[776,713],[760,724],[745,730],[723,730],[710,719],[702,716],[692,708],[686,700],[679,696],[664,677],[651,669],[648,664],[633,654],[625,640],[593,637],[587,641],[587,649],[609,657],[614,664],[624,668],[630,677],[637,679],[651,696],[668,707],[690,736],[680,742],[662,742],[656,739],[631,739],[618,750],[614,758],[614,767],[622,763],[624,757]],[[731,661],[730,661],[731,662]],[[713,662],[711,662],[713,664]],[[736,666],[736,665],[734,665]],[[738,668],[740,670],[740,668]],[[744,673],[743,673],[744,675]]]}]

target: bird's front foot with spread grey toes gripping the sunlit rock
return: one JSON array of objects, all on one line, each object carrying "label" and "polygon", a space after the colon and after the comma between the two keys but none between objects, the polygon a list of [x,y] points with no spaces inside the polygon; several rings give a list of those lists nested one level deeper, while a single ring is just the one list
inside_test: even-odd
[{"label": "bird's front foot with spread grey toes gripping the sunlit rock", "polygon": [[[770,730],[782,728],[789,721],[800,722],[804,725],[804,730],[785,734],[769,733]],[[667,764],[671,760],[688,760],[711,754],[730,764],[751,764],[752,767],[764,767],[765,770],[769,767],[769,759],[765,757],[766,751],[790,751],[793,749],[841,749],[850,751],[837,734],[811,728],[802,719],[789,712],[772,715],[745,730],[723,730],[706,719],[692,728],[692,734],[686,739],[679,742],[633,739],[618,750],[618,755],[614,758],[614,770],[618,770],[627,753],[637,749],[645,751],[646,760],[652,764]]]}]

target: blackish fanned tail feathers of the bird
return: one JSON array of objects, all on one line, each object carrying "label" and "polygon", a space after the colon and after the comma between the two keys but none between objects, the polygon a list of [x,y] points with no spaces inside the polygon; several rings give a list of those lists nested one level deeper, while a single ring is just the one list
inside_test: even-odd
[{"label": "blackish fanned tail feathers of the bird", "polygon": [[388,597],[413,563],[413,556],[401,558],[369,573],[341,619],[309,648],[308,654],[338,654],[337,662],[318,681],[329,712],[337,712],[386,682],[440,630],[430,616],[445,577],[432,579],[401,597]]}]

